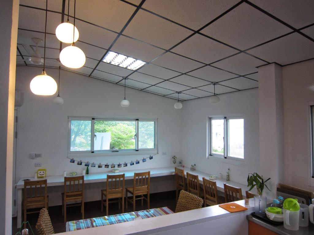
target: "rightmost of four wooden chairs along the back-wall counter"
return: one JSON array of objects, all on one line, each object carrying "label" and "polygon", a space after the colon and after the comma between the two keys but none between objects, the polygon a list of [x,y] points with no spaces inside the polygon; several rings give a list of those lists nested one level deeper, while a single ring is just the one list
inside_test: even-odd
[{"label": "rightmost of four wooden chairs along the back-wall counter", "polygon": [[[127,202],[133,204],[133,211],[135,211],[135,201],[138,199],[142,200],[142,206],[143,206],[143,199],[147,201],[147,209],[149,209],[149,182],[150,182],[150,171],[147,172],[140,172],[140,173],[134,173],[133,178],[133,187],[128,187],[125,189],[125,196],[126,196],[126,205],[127,208]],[[133,200],[128,199],[127,193],[130,193],[133,195]],[[144,195],[147,194],[147,197],[144,197]],[[140,196],[136,198],[136,196]]]}]

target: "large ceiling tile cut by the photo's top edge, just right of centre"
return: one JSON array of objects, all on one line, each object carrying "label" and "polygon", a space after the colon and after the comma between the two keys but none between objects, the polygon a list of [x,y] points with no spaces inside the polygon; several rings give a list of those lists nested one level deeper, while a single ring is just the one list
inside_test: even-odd
[{"label": "large ceiling tile cut by the photo's top edge, just right of centre", "polygon": [[146,0],[143,8],[198,30],[237,2],[237,0],[194,0],[184,1],[182,4],[181,0]]}]

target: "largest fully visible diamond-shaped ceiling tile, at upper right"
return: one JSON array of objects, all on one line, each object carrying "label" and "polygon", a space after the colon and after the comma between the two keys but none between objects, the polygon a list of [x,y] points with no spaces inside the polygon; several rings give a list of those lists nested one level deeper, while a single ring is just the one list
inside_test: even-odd
[{"label": "largest fully visible diamond-shaped ceiling tile, at upper right", "polygon": [[245,50],[291,31],[261,11],[242,3],[201,33]]}]

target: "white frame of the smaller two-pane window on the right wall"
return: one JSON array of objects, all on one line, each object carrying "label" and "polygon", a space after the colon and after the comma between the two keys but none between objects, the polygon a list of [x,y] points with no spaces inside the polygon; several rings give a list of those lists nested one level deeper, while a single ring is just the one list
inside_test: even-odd
[{"label": "white frame of the smaller two-pane window on the right wall", "polygon": [[[245,118],[243,116],[219,116],[208,117],[208,158],[215,157],[218,159],[231,159],[236,161],[245,161],[245,151],[243,145],[243,158],[229,156],[229,122],[230,119],[243,119],[243,143],[245,145]],[[212,120],[224,120],[224,154],[216,154],[212,152]]]}]

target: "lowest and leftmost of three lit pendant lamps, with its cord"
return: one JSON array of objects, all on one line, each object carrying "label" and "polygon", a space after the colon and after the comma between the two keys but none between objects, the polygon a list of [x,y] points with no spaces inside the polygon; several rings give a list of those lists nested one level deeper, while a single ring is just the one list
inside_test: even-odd
[{"label": "lowest and leftmost of three lit pendant lamps, with its cord", "polygon": [[46,0],[46,23],[45,23],[45,47],[44,47],[44,69],[40,75],[35,76],[32,81],[30,81],[30,90],[35,95],[41,96],[51,96],[57,91],[57,83],[51,77],[48,76],[45,71],[45,61],[46,61],[46,29],[47,29],[47,8],[48,0]]}]

